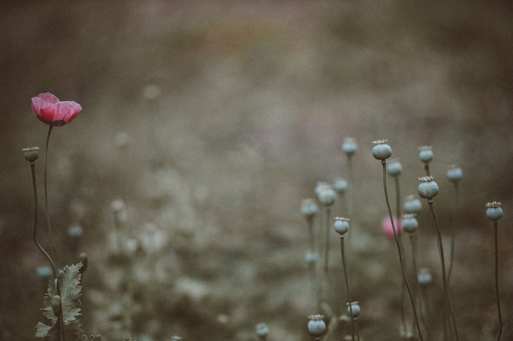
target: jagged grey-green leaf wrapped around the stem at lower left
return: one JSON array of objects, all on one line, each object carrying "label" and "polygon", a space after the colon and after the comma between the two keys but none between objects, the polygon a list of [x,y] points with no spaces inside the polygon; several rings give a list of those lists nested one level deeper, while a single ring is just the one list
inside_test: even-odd
[{"label": "jagged grey-green leaf wrapped around the stem at lower left", "polygon": [[[64,323],[68,323],[76,319],[77,315],[80,315],[80,296],[82,286],[80,285],[81,273],[78,272],[82,263],[79,262],[75,265],[66,265],[64,270],[59,270],[58,285],[61,292],[62,301],[62,314]],[[55,295],[54,289],[55,283],[50,282],[48,285],[48,293],[45,294],[43,301],[45,312],[43,313],[46,317],[52,320],[52,323],[57,321],[57,316],[53,313],[51,306],[51,297]]]}]

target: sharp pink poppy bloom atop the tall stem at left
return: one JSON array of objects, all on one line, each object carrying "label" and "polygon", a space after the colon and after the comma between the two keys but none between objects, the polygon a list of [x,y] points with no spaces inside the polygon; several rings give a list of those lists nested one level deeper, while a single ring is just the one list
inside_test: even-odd
[{"label": "sharp pink poppy bloom atop the tall stem at left", "polygon": [[74,101],[61,102],[49,92],[32,97],[32,111],[42,122],[62,126],[80,113],[82,106]]}]

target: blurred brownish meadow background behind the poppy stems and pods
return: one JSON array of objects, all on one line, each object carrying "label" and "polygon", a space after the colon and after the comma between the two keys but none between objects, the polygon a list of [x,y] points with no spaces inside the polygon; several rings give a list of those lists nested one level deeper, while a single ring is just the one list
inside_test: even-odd
[{"label": "blurred brownish meadow background behind the poppy stems and pods", "polygon": [[[444,242],[455,202],[446,167],[463,169],[450,285],[462,339],[497,331],[485,204],[503,202],[503,339],[513,339],[510,2],[27,1],[3,5],[0,29],[0,339],[33,339],[44,318],[36,268],[46,263],[32,243],[21,151],[44,147],[48,126],[30,106],[42,92],[84,108],[52,132],[48,188],[58,266],[78,251],[89,257],[88,334],[252,340],[265,322],[269,340],[311,339],[307,315],[317,311],[300,205],[317,181],[348,178],[340,146],[352,137],[346,251],[362,338],[399,339],[400,268],[381,229],[382,168],[371,155],[371,141],[387,138],[404,196],[424,175],[418,147],[432,146]],[[112,257],[115,200],[126,207],[124,260]],[[418,263],[433,272],[437,325],[441,274],[423,203]],[[333,213],[347,207],[337,202]],[[42,209],[40,221],[46,241]],[[78,245],[67,233],[76,224]],[[342,293],[334,231],[332,243]],[[333,308],[342,300],[334,295]]]}]

